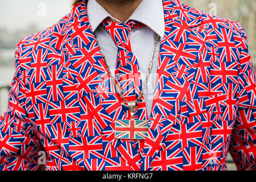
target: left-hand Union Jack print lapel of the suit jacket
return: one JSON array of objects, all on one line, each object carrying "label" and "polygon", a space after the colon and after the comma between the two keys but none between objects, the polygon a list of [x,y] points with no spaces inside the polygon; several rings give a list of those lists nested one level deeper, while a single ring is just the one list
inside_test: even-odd
[{"label": "left-hand Union Jack print lapel of the suit jacket", "polygon": [[[122,110],[122,100],[115,93],[112,79],[90,27],[85,2],[72,10],[63,36],[64,68],[79,91],[80,106],[87,106],[82,110],[87,110],[85,114],[93,115],[97,121],[102,142],[109,143],[112,148],[110,153],[113,154],[110,155],[115,156],[117,150],[131,169],[139,170],[141,156],[138,153],[138,144],[133,140],[114,138],[114,121],[126,119],[127,115]],[[99,157],[105,158],[103,155]],[[85,162],[79,158],[75,160],[80,166],[86,167]]]}]

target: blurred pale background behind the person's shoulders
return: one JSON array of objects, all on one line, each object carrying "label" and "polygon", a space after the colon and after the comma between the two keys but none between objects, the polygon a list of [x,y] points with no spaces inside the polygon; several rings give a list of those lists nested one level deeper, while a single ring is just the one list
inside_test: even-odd
[{"label": "blurred pale background behind the person's shoulders", "polygon": [[[256,0],[181,0],[197,10],[236,20],[245,28],[256,65]],[[50,27],[71,10],[72,0],[0,0],[0,115],[14,75],[14,48],[24,36]],[[228,169],[236,170],[230,156]]]}]

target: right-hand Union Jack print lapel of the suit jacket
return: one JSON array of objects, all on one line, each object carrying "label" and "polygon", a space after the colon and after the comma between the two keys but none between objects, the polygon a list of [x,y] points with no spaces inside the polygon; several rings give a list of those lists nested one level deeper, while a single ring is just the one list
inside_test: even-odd
[{"label": "right-hand Union Jack print lapel of the suit jacket", "polygon": [[164,0],[166,31],[160,44],[158,79],[151,110],[150,127],[142,149],[142,170],[147,170],[163,147],[195,75],[205,47],[207,26],[202,17],[179,0]]}]

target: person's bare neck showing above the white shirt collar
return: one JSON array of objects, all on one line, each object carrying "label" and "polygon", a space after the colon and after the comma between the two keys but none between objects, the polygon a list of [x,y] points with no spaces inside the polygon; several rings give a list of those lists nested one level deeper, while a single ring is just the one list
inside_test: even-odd
[{"label": "person's bare neck showing above the white shirt collar", "polygon": [[106,11],[122,23],[133,14],[142,0],[96,0]]}]

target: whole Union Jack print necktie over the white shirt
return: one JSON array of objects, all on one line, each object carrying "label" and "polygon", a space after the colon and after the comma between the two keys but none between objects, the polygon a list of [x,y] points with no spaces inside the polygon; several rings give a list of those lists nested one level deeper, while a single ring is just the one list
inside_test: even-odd
[{"label": "whole Union Jack print necktie over the white shirt", "polygon": [[[129,39],[130,31],[133,28],[144,26],[135,20],[129,20],[127,23],[110,22],[105,19],[102,26],[109,33],[115,45],[118,48],[117,61],[115,64],[115,82],[122,91],[127,101],[136,101],[142,90],[142,79],[139,71],[138,60],[131,51]],[[123,105],[123,111],[130,117],[128,107]],[[135,118],[146,119],[146,104],[144,98],[139,102],[135,111]]]}]

